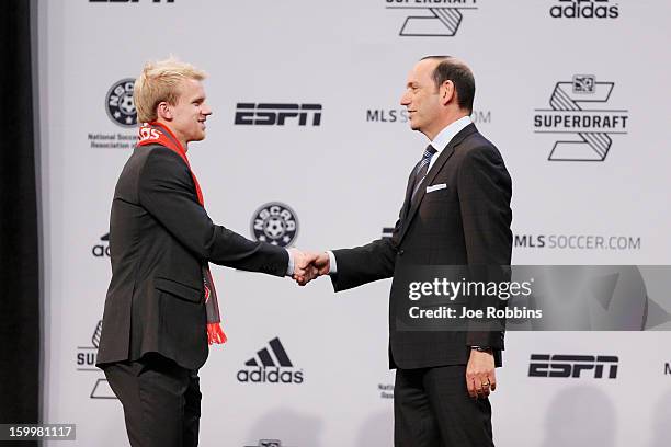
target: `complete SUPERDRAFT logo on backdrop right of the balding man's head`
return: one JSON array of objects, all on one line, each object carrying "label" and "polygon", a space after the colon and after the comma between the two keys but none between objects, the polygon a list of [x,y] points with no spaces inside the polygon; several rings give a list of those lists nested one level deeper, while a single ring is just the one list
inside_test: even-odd
[{"label": "complete SUPERDRAFT logo on backdrop right of the balding man's head", "polygon": [[555,84],[550,108],[536,108],[534,114],[534,133],[559,135],[548,160],[605,160],[612,136],[626,135],[629,119],[627,110],[609,108],[614,88],[614,82],[592,74],[575,74]]}]

